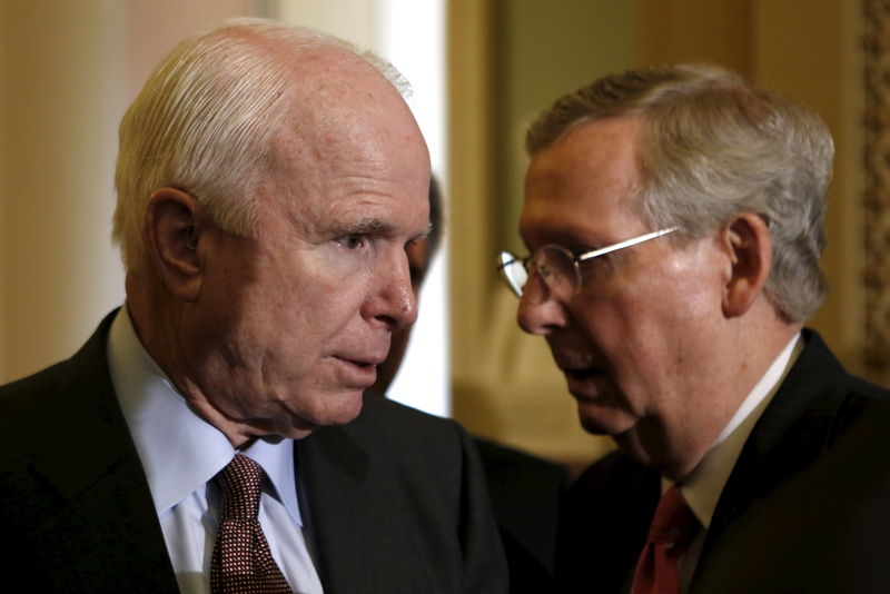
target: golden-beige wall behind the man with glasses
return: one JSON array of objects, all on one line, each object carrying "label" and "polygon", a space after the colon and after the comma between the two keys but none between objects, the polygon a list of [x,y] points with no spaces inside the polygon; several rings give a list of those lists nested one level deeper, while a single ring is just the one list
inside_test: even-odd
[{"label": "golden-beige wall behind the man with glasses", "polygon": [[[860,81],[854,0],[563,0],[452,3],[453,375],[471,429],[570,463],[607,440],[583,435],[541,339],[515,325],[494,254],[516,245],[528,113],[596,75],[637,63],[710,61],[819,111],[838,146],[824,264],[830,298],[813,324],[860,368]],[[511,232],[514,235],[511,237]]]}]

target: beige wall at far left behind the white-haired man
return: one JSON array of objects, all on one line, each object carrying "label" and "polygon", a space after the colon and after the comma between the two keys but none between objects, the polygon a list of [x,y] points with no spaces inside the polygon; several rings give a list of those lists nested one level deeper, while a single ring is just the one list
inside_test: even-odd
[{"label": "beige wall at far left behind the white-haired man", "polygon": [[248,0],[43,0],[0,12],[0,382],[72,354],[121,303],[117,123],[150,68]]}]

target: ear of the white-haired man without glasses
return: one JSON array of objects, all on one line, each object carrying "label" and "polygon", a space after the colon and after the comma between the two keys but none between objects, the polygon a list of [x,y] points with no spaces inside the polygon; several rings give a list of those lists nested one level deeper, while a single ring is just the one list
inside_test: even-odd
[{"label": "ear of the white-haired man without glasses", "polygon": [[186,301],[198,298],[201,286],[199,225],[204,207],[197,198],[175,188],[151,195],[146,208],[142,235],[161,284]]}]

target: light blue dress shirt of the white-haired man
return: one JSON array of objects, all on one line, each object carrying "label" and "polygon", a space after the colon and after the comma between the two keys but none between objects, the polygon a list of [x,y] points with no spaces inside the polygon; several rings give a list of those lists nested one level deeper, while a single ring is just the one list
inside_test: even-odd
[{"label": "light blue dress shirt of the white-haired man", "polygon": [[[179,590],[210,592],[210,562],[220,505],[214,476],[236,451],[199,417],[142,347],[126,306],[108,337],[108,364],[123,417],[142,463]],[[244,454],[264,481],[259,523],[290,588],[320,594],[322,583],[303,535],[290,439],[257,439]]]}]

